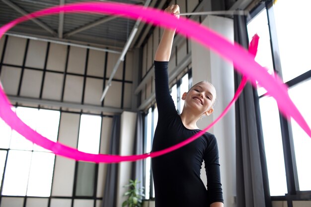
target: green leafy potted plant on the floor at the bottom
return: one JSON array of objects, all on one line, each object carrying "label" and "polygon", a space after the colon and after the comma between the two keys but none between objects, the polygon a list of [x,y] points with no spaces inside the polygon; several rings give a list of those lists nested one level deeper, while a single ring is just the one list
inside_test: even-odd
[{"label": "green leafy potted plant on the floor at the bottom", "polygon": [[144,187],[138,187],[137,184],[140,183],[138,180],[130,180],[128,185],[123,187],[129,188],[123,196],[127,196],[127,200],[122,203],[122,207],[142,207]]}]

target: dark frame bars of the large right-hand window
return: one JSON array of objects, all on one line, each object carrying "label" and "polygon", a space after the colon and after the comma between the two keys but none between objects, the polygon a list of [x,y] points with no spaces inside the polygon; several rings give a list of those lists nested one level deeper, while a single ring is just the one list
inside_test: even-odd
[{"label": "dark frame bars of the large right-hand window", "polygon": [[[278,47],[277,41],[277,33],[276,33],[276,23],[275,16],[273,10],[273,0],[267,0],[257,7],[255,7],[251,12],[249,17],[247,18],[247,23],[250,22],[257,14],[266,9],[267,19],[268,19],[268,27],[269,27],[269,35],[270,35],[270,46],[272,53],[272,61],[273,61],[273,70],[276,74],[278,74],[282,78],[282,67],[280,61],[280,51]],[[298,84],[310,80],[311,79],[311,69],[297,77],[290,79],[285,82],[285,84],[289,87],[289,89],[297,86]],[[267,97],[268,94],[260,94],[259,100],[261,98]],[[293,201],[310,201],[311,200],[311,191],[300,191],[299,189],[299,180],[298,180],[298,172],[296,165],[296,157],[295,157],[295,148],[294,148],[294,139],[293,132],[291,127],[291,122],[284,118],[281,113],[279,113],[280,120],[280,128],[282,135],[282,145],[283,145],[283,153],[284,153],[284,164],[285,164],[285,172],[286,172],[286,182],[287,182],[287,194],[284,196],[271,196],[271,201],[287,201],[288,207],[293,207]],[[263,172],[266,174],[267,172]],[[268,182],[267,182],[268,183]]]}]

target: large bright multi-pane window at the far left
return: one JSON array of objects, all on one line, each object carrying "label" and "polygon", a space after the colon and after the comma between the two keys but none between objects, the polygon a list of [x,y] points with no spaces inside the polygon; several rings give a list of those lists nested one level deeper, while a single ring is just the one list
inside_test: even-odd
[{"label": "large bright multi-pane window at the far left", "polygon": [[[38,133],[50,140],[57,140],[59,111],[17,107],[16,114]],[[3,132],[4,138],[0,142],[0,153],[4,155],[0,160],[2,195],[49,197],[55,155],[12,131],[2,120],[0,128],[3,129],[1,136]]]}]

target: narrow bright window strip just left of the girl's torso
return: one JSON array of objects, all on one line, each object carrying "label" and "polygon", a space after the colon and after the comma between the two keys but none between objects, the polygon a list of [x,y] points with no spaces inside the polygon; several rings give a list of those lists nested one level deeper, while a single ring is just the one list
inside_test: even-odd
[{"label": "narrow bright window strip just left of the girl's torso", "polygon": [[[152,128],[152,109],[150,108],[147,115],[147,138],[146,152],[151,151],[151,128]],[[146,159],[146,180],[145,180],[145,199],[150,198],[150,174],[151,173],[151,158]]]}]

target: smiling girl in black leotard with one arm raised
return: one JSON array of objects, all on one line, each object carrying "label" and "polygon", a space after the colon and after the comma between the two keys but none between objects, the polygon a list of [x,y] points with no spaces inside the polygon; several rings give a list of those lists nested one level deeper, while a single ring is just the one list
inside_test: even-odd
[{"label": "smiling girl in black leotard with one arm raised", "polygon": [[[178,5],[165,12],[177,16]],[[155,55],[155,82],[158,122],[153,151],[179,143],[196,133],[196,122],[213,113],[216,90],[208,82],[199,82],[182,95],[185,101],[179,115],[169,93],[167,65],[175,31],[164,30]],[[204,160],[207,189],[200,169]],[[214,135],[205,133],[200,138],[173,152],[152,159],[156,207],[223,207],[218,146]]]}]

